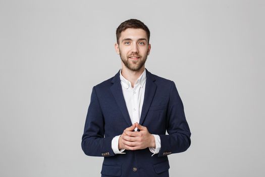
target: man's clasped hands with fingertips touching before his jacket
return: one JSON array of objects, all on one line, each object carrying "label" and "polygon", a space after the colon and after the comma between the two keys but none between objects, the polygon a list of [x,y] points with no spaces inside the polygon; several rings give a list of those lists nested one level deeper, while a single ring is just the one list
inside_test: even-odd
[{"label": "man's clasped hands with fingertips touching before his jacket", "polygon": [[[140,131],[134,131],[135,128],[140,129]],[[149,134],[149,131],[145,126],[142,126],[137,122],[126,128],[119,138],[119,150],[138,150],[147,147],[155,148],[154,136]]]}]

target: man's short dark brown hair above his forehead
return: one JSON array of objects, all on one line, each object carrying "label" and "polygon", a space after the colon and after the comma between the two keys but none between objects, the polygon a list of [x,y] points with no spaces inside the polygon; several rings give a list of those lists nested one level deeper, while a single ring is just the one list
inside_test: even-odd
[{"label": "man's short dark brown hair above his forehead", "polygon": [[120,26],[116,29],[116,37],[117,37],[118,45],[120,44],[119,39],[121,37],[122,31],[126,30],[127,28],[141,28],[141,29],[143,29],[147,34],[147,43],[149,43],[150,31],[149,31],[148,27],[143,22],[141,22],[140,20],[130,19],[130,20],[126,20],[126,21],[122,22],[120,24]]}]

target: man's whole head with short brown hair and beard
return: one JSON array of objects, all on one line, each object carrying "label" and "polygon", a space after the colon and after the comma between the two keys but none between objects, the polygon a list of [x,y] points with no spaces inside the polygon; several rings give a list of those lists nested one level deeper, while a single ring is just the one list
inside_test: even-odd
[{"label": "man's whole head with short brown hair and beard", "polygon": [[144,67],[150,53],[150,31],[139,20],[130,19],[120,24],[116,30],[115,49],[120,54],[122,63],[132,71]]}]

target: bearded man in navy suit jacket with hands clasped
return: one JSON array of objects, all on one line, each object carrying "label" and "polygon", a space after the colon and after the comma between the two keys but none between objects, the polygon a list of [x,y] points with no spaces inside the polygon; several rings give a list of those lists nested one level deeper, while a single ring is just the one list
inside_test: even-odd
[{"label": "bearded man in navy suit jacket with hands clasped", "polygon": [[92,89],[82,149],[104,157],[101,176],[169,176],[167,156],[191,143],[176,85],[144,67],[151,49],[145,24],[127,20],[116,36],[122,68]]}]

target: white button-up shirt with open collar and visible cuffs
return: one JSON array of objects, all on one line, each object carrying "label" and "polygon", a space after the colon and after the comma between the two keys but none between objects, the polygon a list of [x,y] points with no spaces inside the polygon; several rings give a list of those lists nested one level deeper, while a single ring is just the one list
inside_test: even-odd
[{"label": "white button-up shirt with open collar and visible cuffs", "polygon": [[[146,81],[146,70],[144,69],[143,73],[137,79],[132,87],[132,84],[129,80],[123,77],[122,69],[120,69],[120,79],[122,85],[122,92],[126,102],[126,107],[131,119],[132,124],[140,121],[143,100],[144,100],[144,91],[145,91],[145,81]],[[137,128],[135,128],[135,131]],[[153,135],[153,134],[152,134]],[[125,154],[123,151],[125,149],[118,148],[119,138],[121,135],[116,136],[112,140],[112,149],[115,154]],[[153,135],[155,140],[155,148],[149,147],[149,150],[154,154],[157,154],[161,149],[161,140],[158,135]]]}]

